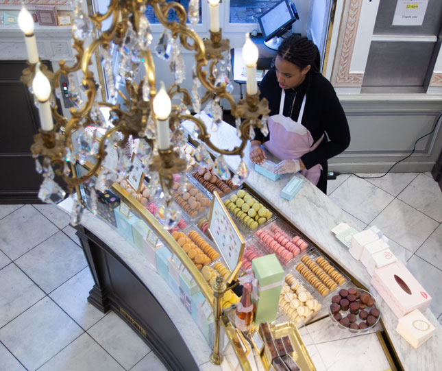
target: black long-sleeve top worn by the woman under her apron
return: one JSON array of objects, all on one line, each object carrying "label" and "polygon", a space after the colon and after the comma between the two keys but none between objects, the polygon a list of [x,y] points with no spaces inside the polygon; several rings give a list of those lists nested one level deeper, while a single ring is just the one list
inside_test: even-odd
[{"label": "black long-sleeve top worn by the woman under her apron", "polygon": [[[267,98],[271,115],[278,115],[281,88],[275,69],[271,69],[260,84],[260,97]],[[302,100],[306,97],[302,125],[310,131],[314,143],[326,133],[321,144],[312,152],[301,157],[307,169],[343,152],[350,143],[350,132],[344,110],[330,82],[319,73],[307,73],[306,79],[296,88],[286,89],[283,115],[297,121]],[[293,99],[295,102],[293,103]],[[292,108],[293,105],[293,108]],[[271,133],[269,134],[271,135]],[[264,143],[269,140],[259,129],[255,129],[255,140]],[[314,144],[312,143],[312,145]]]}]

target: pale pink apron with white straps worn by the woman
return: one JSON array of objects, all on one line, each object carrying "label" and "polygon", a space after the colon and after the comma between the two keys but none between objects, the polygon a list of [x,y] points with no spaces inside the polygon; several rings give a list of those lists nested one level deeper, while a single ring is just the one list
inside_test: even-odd
[{"label": "pale pink apron with white straps worn by the woman", "polygon": [[[304,99],[302,100],[298,121],[293,121],[291,117],[282,115],[285,97],[286,94],[284,89],[282,89],[280,112],[278,115],[269,117],[268,125],[271,134],[270,140],[264,143],[264,147],[280,160],[297,160],[304,154],[314,151],[324,136],[322,135],[314,145],[310,144],[313,143],[312,134],[302,125],[302,116],[304,115],[304,108],[306,106],[306,95],[304,95]],[[310,180],[310,182],[316,185],[319,182],[321,170],[321,165],[317,164],[308,170],[301,170],[301,173]]]}]

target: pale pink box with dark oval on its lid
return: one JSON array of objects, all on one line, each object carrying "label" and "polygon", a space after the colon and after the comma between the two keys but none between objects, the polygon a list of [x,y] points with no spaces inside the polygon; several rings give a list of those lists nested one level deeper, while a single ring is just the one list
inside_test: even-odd
[{"label": "pale pink box with dark oval on its lid", "polygon": [[371,285],[389,305],[397,318],[419,309],[425,311],[431,296],[400,261],[375,270]]}]

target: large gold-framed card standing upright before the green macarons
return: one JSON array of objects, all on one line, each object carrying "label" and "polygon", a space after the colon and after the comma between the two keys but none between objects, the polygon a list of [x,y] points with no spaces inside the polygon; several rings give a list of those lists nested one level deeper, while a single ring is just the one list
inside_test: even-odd
[{"label": "large gold-framed card standing upright before the green macarons", "polygon": [[245,241],[216,191],[208,219],[210,234],[232,271],[243,256]]}]

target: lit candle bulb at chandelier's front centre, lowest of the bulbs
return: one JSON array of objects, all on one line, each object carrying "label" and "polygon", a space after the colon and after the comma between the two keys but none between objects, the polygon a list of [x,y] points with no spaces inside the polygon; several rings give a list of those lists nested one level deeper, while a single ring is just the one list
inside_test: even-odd
[{"label": "lit candle bulb at chandelier's front centre, lowest of the bulbs", "polygon": [[156,115],[157,147],[158,149],[169,149],[171,141],[169,139],[169,115],[172,110],[172,102],[167,94],[164,82],[161,82],[160,91],[154,98],[154,112]]}]

